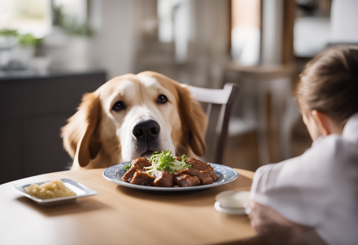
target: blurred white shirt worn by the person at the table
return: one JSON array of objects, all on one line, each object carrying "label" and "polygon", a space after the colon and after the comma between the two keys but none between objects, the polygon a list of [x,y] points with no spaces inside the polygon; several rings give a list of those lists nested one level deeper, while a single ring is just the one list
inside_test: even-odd
[{"label": "blurred white shirt worn by the person at the table", "polygon": [[321,137],[299,157],[257,169],[251,200],[314,227],[327,244],[358,244],[358,113],[342,135]]}]

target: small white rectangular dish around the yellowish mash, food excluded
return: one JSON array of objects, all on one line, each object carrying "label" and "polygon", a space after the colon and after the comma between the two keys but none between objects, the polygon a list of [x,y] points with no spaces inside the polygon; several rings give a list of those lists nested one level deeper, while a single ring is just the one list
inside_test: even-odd
[{"label": "small white rectangular dish around the yellowish mash, food excluded", "polygon": [[[39,198],[31,196],[30,194],[28,194],[24,191],[24,187],[30,186],[33,183],[23,184],[23,185],[14,184],[13,187],[15,189],[17,189],[25,197],[28,197],[28,198],[34,200],[35,202],[39,203],[40,205],[47,205],[47,206],[76,202],[77,198],[79,198],[79,197],[88,197],[88,196],[93,196],[93,195],[97,194],[97,192],[95,190],[92,190],[92,189],[88,188],[87,186],[84,186],[83,184],[73,181],[72,179],[64,178],[61,180],[63,181],[64,185],[67,188],[71,189],[71,191],[76,193],[76,196],[59,197],[59,198],[51,198],[51,199],[39,199]],[[35,184],[41,185],[45,182],[48,182],[48,181],[37,182]]]}]

